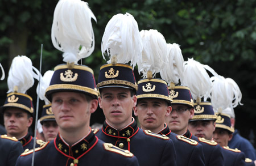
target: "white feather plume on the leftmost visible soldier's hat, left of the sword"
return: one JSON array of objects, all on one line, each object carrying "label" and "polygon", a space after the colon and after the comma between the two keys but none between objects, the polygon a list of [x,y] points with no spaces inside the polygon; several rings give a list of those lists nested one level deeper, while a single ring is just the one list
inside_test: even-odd
[{"label": "white feather plume on the leftmost visible soldier's hat, left of the sword", "polygon": [[34,78],[39,78],[38,74],[39,71],[32,66],[30,58],[26,56],[15,57],[9,70],[7,79],[9,91],[7,93],[14,92],[16,87],[18,87],[19,93],[26,93],[34,85]]}]

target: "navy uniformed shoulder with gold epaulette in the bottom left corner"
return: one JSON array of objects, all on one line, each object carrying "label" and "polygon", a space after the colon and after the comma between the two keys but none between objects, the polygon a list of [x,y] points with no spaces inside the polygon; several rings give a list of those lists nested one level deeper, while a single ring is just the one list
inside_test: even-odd
[{"label": "navy uniformed shoulder with gold epaulette in the bottom left corner", "polygon": [[15,165],[19,155],[23,152],[22,144],[18,139],[1,135],[0,137],[0,161],[1,165]]}]

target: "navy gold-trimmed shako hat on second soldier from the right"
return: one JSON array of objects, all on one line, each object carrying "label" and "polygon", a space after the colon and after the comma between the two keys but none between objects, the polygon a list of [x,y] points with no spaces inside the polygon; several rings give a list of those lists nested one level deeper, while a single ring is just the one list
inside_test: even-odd
[{"label": "navy gold-trimmed shako hat on second soldier from the right", "polygon": [[197,120],[216,120],[217,116],[214,114],[212,104],[210,102],[200,102],[194,104],[194,116],[189,121]]}]

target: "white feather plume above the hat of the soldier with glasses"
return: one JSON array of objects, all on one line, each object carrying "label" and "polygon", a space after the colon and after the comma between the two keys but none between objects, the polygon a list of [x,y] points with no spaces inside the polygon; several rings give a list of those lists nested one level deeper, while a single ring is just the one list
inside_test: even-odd
[{"label": "white feather plume above the hat of the soldier with glasses", "polygon": [[167,83],[183,83],[184,78],[184,59],[180,45],[167,44],[168,63],[164,63],[163,70],[160,70],[162,79]]}]

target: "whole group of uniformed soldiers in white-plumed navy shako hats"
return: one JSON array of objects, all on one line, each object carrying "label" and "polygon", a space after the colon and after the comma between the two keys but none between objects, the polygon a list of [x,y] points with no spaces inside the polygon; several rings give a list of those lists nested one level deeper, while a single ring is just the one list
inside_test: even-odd
[{"label": "whole group of uniformed soldiers in white-plumed navy shako hats", "polygon": [[[234,80],[194,59],[184,62],[179,45],[167,44],[154,29],[139,32],[126,13],[106,25],[101,50],[109,61],[96,83],[93,70],[78,64],[94,50],[91,19],[88,3],[60,0],[51,36],[65,63],[41,76],[26,56],[13,59],[0,146],[9,141],[6,156],[10,147],[16,152],[1,156],[4,165],[255,165],[254,151],[245,156],[228,147],[230,114],[241,104]],[[143,76],[138,82],[135,66]],[[26,94],[34,79],[46,104],[40,117],[45,142],[36,145],[28,132],[35,108]],[[97,107],[105,122],[92,130]]]}]

